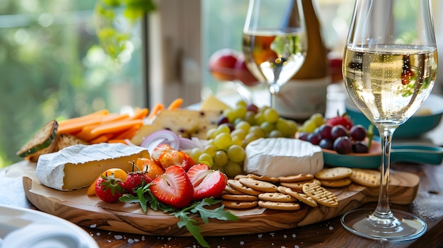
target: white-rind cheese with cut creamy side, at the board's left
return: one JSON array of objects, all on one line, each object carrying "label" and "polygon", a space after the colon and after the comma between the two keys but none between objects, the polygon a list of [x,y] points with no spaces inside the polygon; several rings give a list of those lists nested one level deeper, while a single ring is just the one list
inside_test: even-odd
[{"label": "white-rind cheese with cut creamy side, at the board's left", "polygon": [[110,168],[132,171],[132,161],[137,158],[150,158],[146,148],[123,143],[74,145],[40,155],[35,174],[43,185],[53,189],[81,189]]}]

